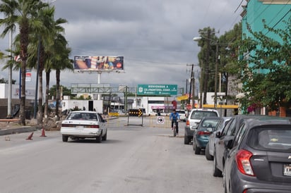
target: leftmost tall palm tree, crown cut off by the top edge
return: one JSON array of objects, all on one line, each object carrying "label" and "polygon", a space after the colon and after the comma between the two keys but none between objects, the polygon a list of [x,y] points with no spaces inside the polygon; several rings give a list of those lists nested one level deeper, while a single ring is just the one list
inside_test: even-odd
[{"label": "leftmost tall palm tree, crown cut off by the top edge", "polygon": [[4,18],[0,19],[0,25],[4,25],[1,37],[8,32],[16,30],[16,24],[20,32],[20,59],[21,59],[21,97],[20,97],[20,124],[25,125],[25,70],[28,60],[29,34],[32,24],[39,22],[39,10],[47,4],[39,0],[2,0],[0,12]]}]

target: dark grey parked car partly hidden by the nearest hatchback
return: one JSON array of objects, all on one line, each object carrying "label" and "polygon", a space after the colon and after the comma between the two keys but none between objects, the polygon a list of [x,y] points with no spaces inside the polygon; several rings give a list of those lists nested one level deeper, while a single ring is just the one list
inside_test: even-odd
[{"label": "dark grey parked car partly hidden by the nearest hatchback", "polygon": [[230,122],[221,131],[216,132],[213,151],[213,176],[222,177],[225,158],[229,151],[229,149],[225,148],[225,142],[234,139],[234,135],[237,133],[237,130],[239,130],[239,124],[244,118],[254,118],[254,116],[232,116]]}]

